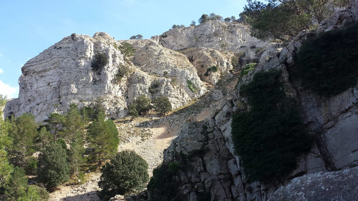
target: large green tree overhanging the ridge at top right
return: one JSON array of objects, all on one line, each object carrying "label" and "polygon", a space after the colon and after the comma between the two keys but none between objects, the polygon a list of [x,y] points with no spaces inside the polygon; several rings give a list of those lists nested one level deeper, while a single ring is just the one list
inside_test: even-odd
[{"label": "large green tree overhanging the ridge at top right", "polygon": [[269,0],[267,4],[248,0],[241,14],[252,25],[252,35],[265,39],[274,37],[283,41],[301,30],[314,28],[333,10],[330,0]]}]

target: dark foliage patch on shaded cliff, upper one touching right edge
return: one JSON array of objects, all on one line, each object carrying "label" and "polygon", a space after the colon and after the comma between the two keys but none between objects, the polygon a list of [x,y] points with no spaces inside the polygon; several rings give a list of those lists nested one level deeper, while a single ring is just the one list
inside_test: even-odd
[{"label": "dark foliage patch on shaded cliff, upper one touching right edge", "polygon": [[358,24],[326,31],[305,43],[297,52],[296,65],[289,69],[305,89],[330,97],[357,85]]}]

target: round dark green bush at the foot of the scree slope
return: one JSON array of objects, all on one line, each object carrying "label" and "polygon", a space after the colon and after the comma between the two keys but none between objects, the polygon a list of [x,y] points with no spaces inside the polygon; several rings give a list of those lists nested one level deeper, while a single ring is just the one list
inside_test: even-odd
[{"label": "round dark green bush at the foot of the scree slope", "polygon": [[98,182],[101,198],[141,191],[149,180],[148,163],[133,150],[116,153],[101,172]]}]

